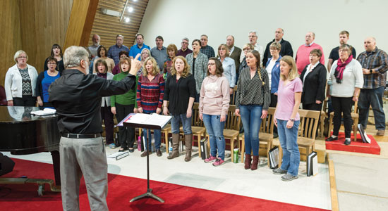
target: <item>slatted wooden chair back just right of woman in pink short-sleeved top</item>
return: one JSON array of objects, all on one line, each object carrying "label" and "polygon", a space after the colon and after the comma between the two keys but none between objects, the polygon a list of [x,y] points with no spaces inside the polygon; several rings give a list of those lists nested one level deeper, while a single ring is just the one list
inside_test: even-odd
[{"label": "slatted wooden chair back just right of woman in pink short-sleeved top", "polygon": [[315,139],[320,111],[301,109],[298,113],[301,117],[301,122],[299,123],[300,132],[298,133],[298,136]]}]

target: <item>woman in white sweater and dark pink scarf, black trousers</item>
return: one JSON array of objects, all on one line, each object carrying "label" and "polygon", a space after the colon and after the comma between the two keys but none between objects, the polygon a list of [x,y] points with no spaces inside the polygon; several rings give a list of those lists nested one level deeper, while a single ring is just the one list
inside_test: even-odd
[{"label": "woman in white sweater and dark pink scarf, black trousers", "polygon": [[358,101],[360,89],[363,88],[363,70],[355,58],[351,55],[352,46],[343,44],[339,46],[339,60],[334,61],[330,76],[327,81],[327,96],[332,96],[334,110],[333,134],[326,141],[338,139],[341,126],[341,113],[344,115],[345,144],[351,143],[351,107]]}]

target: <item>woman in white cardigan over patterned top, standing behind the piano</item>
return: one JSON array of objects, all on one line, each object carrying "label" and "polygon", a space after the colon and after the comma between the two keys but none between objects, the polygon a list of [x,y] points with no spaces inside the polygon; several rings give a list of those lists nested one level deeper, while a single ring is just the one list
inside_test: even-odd
[{"label": "woman in white cardigan over patterned top, standing behind the piano", "polygon": [[25,51],[17,51],[13,60],[16,65],[8,69],[4,83],[8,106],[36,106],[37,70],[27,64]]}]

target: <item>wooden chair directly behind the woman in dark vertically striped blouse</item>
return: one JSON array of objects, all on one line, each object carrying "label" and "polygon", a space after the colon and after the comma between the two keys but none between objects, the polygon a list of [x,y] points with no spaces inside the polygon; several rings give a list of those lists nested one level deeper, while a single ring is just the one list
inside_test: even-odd
[{"label": "wooden chair directly behind the woman in dark vertically striped blouse", "polygon": [[[269,153],[269,150],[272,148],[272,142],[274,140],[274,112],[275,108],[268,108],[268,115],[267,118],[261,121],[260,125],[260,132],[259,132],[259,140],[260,143],[266,143],[267,144],[267,155]],[[245,143],[244,143],[244,135],[243,135],[243,143],[241,146],[241,162],[244,160],[244,153],[245,153]],[[269,166],[269,162],[268,162]]]}]

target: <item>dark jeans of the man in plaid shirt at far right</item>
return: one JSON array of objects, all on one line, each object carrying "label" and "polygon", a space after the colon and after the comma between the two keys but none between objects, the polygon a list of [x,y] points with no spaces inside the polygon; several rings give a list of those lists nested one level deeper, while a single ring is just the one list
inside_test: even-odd
[{"label": "dark jeans of the man in plaid shirt at far right", "polygon": [[373,114],[375,115],[376,129],[385,130],[385,115],[382,105],[382,96],[384,95],[384,87],[376,89],[361,89],[360,98],[358,98],[358,109],[360,113],[360,123],[363,127],[368,124],[369,107],[372,106]]}]

